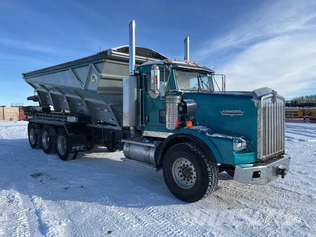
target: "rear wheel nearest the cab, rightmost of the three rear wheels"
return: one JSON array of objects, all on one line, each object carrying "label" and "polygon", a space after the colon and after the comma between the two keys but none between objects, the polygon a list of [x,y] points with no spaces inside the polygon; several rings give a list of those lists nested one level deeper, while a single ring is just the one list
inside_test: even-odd
[{"label": "rear wheel nearest the cab, rightmost of the three rear wheels", "polygon": [[76,153],[71,151],[69,137],[65,130],[59,130],[56,137],[56,148],[59,158],[70,160],[76,157]]}]

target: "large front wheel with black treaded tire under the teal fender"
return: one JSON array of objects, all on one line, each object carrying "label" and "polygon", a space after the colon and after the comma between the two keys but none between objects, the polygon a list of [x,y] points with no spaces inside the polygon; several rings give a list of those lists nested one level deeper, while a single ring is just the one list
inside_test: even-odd
[{"label": "large front wheel with black treaded tire under the teal fender", "polygon": [[212,158],[192,142],[174,145],[162,164],[163,177],[177,198],[194,202],[214,192],[218,183],[218,167]]}]

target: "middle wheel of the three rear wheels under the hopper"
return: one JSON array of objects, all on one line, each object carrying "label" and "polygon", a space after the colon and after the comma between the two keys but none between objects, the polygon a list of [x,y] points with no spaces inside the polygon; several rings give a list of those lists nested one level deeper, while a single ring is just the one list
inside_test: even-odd
[{"label": "middle wheel of the three rear wheels under the hopper", "polygon": [[56,152],[56,130],[48,125],[41,129],[41,148],[46,154],[53,154]]}]

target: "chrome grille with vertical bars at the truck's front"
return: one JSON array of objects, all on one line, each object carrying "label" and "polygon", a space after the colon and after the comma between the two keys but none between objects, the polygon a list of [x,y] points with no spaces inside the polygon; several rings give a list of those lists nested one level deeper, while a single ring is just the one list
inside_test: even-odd
[{"label": "chrome grille with vertical bars at the truck's front", "polygon": [[272,100],[262,105],[262,158],[284,151],[285,108],[284,101]]}]

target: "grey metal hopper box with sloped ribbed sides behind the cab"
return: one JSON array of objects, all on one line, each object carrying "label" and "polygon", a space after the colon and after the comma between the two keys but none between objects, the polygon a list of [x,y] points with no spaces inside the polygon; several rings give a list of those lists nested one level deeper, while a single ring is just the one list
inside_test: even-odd
[{"label": "grey metal hopper box with sloped ribbed sides behind the cab", "polygon": [[[120,130],[122,80],[129,75],[128,49],[128,46],[111,48],[22,76],[36,90],[40,106],[88,116],[91,126],[102,124]],[[136,66],[163,59],[167,58],[154,50],[136,47]]]}]

